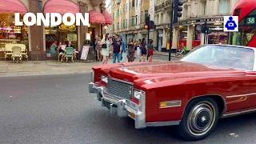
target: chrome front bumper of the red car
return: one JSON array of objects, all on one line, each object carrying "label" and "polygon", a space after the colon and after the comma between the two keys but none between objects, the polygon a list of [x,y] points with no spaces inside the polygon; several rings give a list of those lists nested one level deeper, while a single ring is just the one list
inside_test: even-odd
[{"label": "chrome front bumper of the red car", "polygon": [[145,122],[145,96],[139,99],[139,105],[124,98],[110,94],[106,87],[95,85],[93,82],[89,84],[90,93],[97,93],[97,99],[102,106],[106,106],[110,110],[110,114],[117,114],[119,117],[130,117],[134,119],[136,129],[146,127]]}]

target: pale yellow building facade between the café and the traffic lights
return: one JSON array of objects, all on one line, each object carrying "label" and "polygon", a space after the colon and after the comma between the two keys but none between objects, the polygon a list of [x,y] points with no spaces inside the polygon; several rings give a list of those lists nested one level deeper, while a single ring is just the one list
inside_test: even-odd
[{"label": "pale yellow building facade between the caf\u00e9 and the traffic lights", "polygon": [[146,17],[150,14],[150,1],[153,0],[112,0],[113,26],[111,34],[125,38],[147,38],[144,29]]}]

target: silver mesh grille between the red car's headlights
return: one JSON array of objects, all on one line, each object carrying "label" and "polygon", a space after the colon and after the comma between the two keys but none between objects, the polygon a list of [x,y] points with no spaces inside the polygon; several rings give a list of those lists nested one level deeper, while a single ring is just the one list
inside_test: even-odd
[{"label": "silver mesh grille between the red car's headlights", "polygon": [[108,78],[107,87],[110,94],[114,94],[115,96],[126,99],[130,99],[133,89],[133,86],[131,86],[130,84],[127,84],[125,82],[118,82],[111,78]]}]

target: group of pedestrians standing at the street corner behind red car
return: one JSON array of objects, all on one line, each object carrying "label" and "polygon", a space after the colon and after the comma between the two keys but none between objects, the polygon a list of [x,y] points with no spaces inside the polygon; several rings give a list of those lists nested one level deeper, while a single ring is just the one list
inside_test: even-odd
[{"label": "group of pedestrians standing at the street corner behind red car", "polygon": [[[110,34],[106,34],[105,38],[102,39],[98,36],[94,40],[94,46],[97,50],[98,61],[102,61],[103,65],[107,64],[110,56],[113,57],[113,63],[122,62],[122,54],[126,52],[126,43],[118,34],[114,34],[114,38],[111,38]],[[145,38],[142,38],[142,42],[130,38],[127,44],[126,57],[128,62],[134,62],[137,57],[140,58],[139,62],[145,62],[146,54],[148,54],[149,62],[152,62],[154,51],[157,53],[157,50],[154,49],[153,40],[146,44]]]}]

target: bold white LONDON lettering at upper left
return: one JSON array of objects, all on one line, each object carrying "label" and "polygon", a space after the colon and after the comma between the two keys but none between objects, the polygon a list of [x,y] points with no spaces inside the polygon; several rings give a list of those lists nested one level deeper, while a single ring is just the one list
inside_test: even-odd
[{"label": "bold white LONDON lettering at upper left", "polygon": [[[89,13],[76,13],[75,15],[72,13],[66,13],[63,16],[58,13],[46,13],[44,16],[43,13],[37,13],[37,15],[33,13],[26,13],[23,16],[23,22],[20,22],[20,14],[15,13],[15,26],[58,26],[62,22],[66,26],[73,26],[76,23],[76,26],[80,26],[82,22],[82,26],[89,26]],[[70,18],[70,22],[68,21]]]}]

